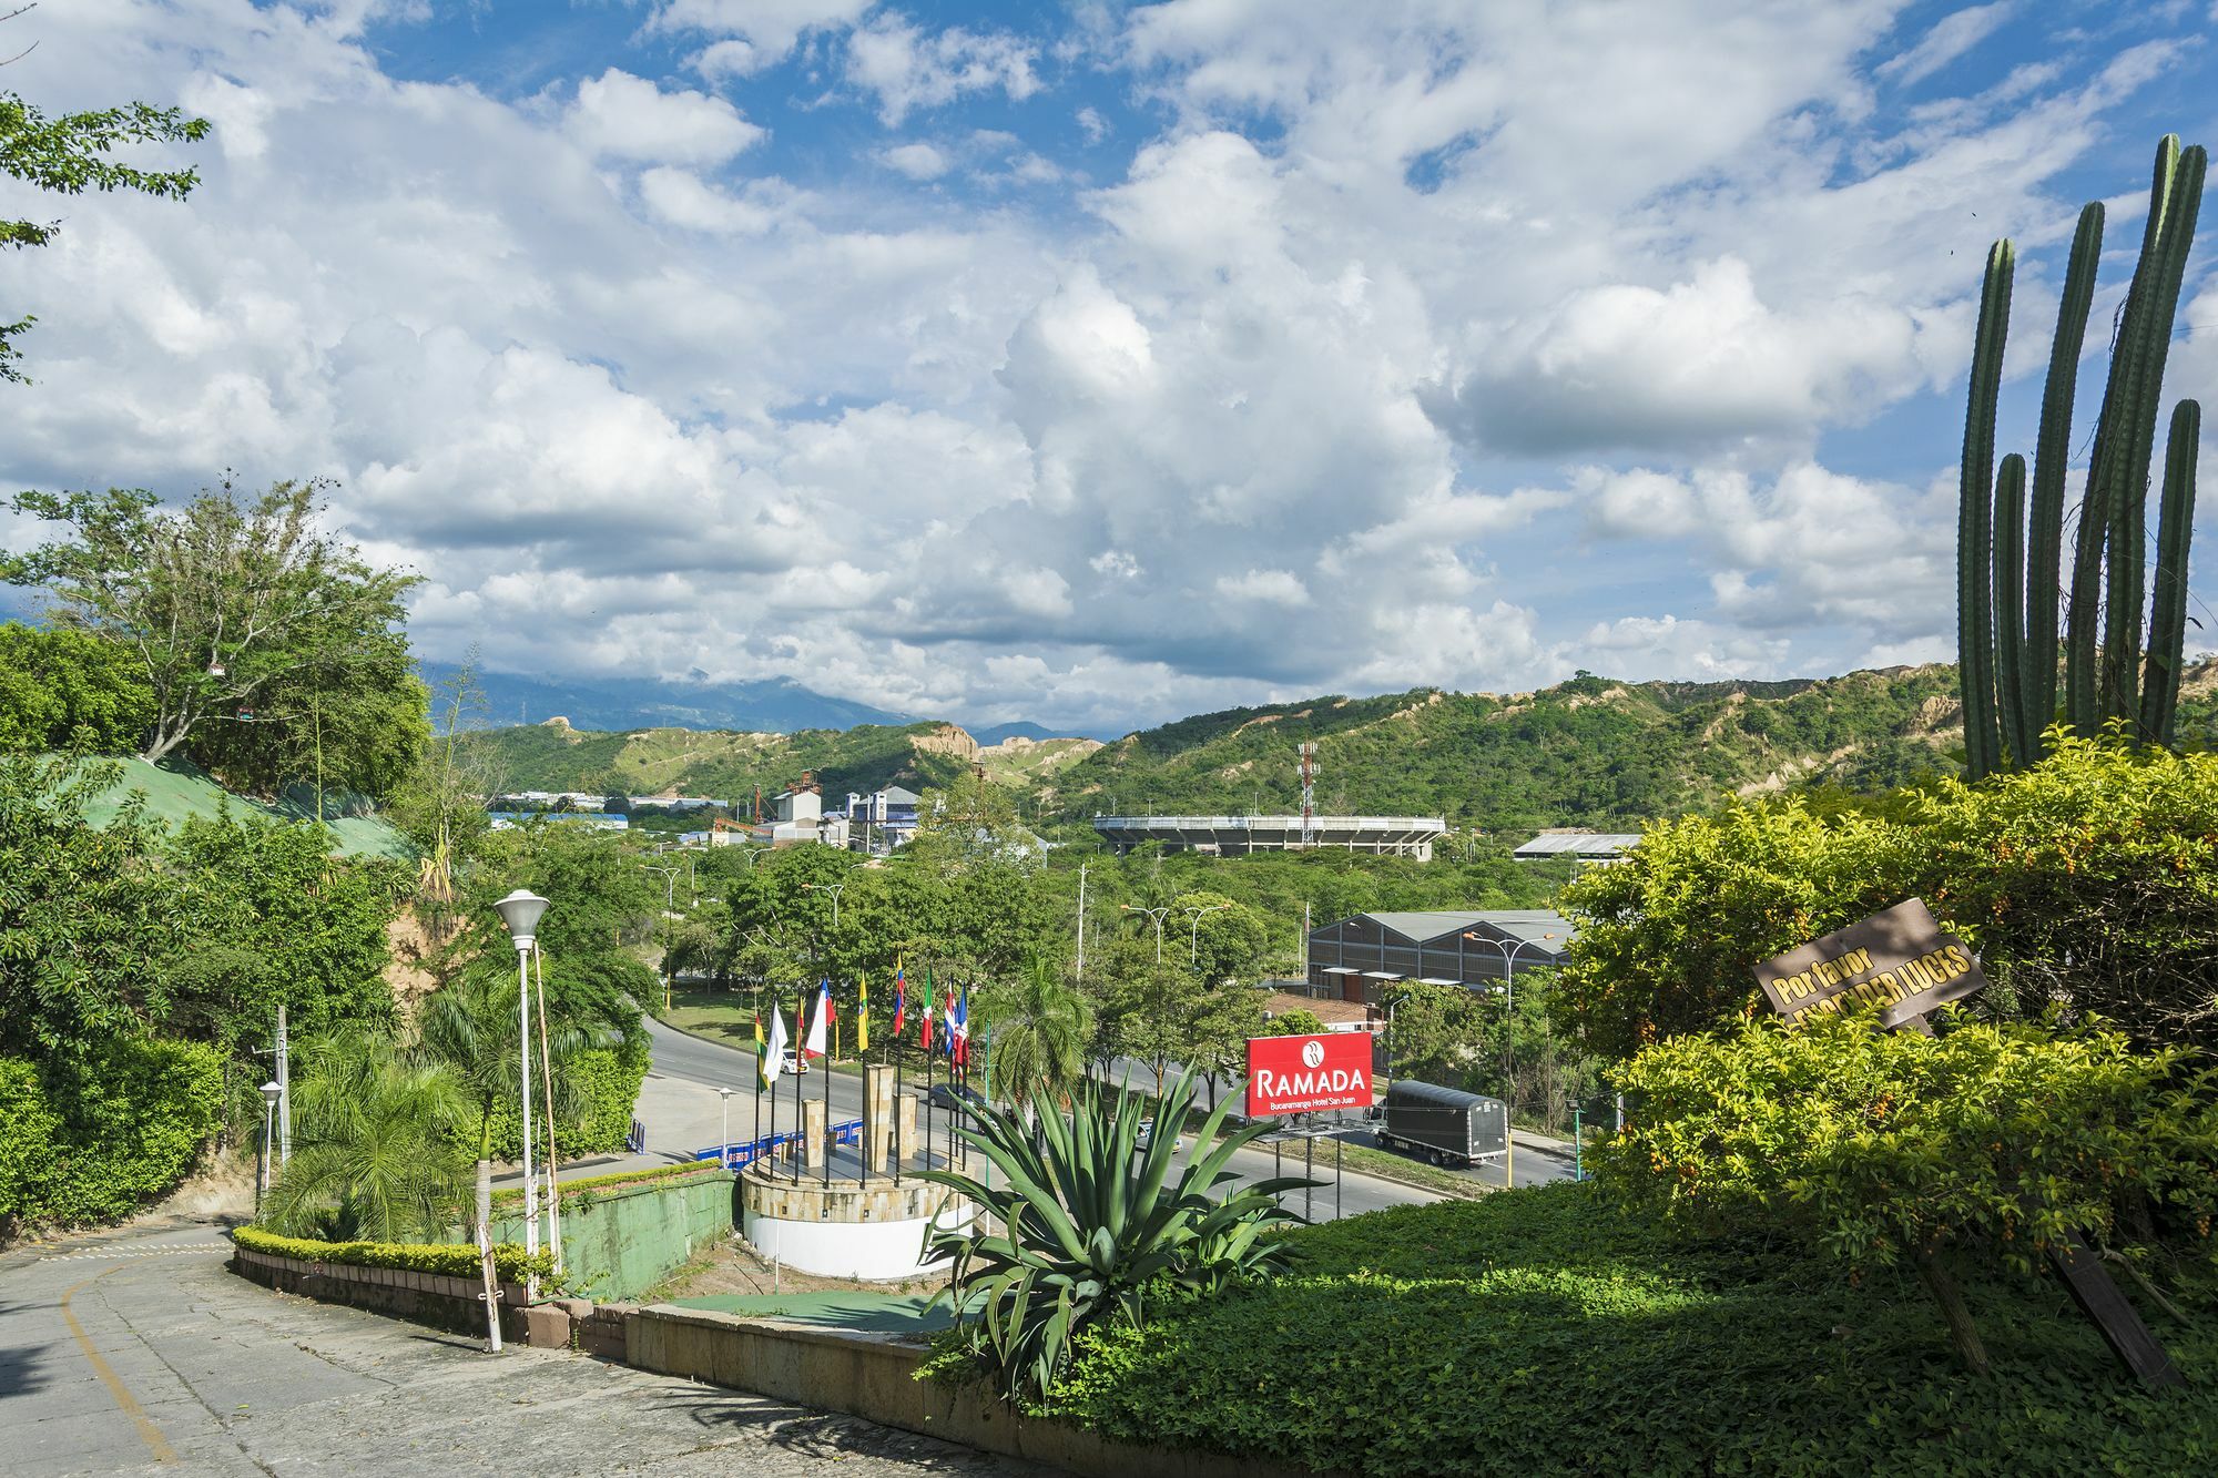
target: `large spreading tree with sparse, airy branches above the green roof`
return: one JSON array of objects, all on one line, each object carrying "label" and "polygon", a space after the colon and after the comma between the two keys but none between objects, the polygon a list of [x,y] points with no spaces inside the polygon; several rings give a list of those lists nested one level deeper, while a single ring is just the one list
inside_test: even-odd
[{"label": "large spreading tree with sparse, airy branches above the green roof", "polygon": [[[388,701],[388,715],[415,686],[393,655],[404,650],[395,628],[417,577],[375,568],[353,544],[317,533],[319,488],[279,482],[242,506],[226,482],[182,508],[162,508],[144,490],[20,493],[16,513],[69,533],[0,559],[0,577],[49,588],[58,626],[133,655],[153,699],[144,759],[173,752],[211,717],[286,692],[293,703],[271,715],[271,730],[257,723],[262,737],[251,743],[277,746],[288,735],[282,743],[297,755],[308,717],[302,684],[384,681],[390,697],[399,681],[401,703]],[[326,759],[339,772],[375,770],[368,757]]]}]

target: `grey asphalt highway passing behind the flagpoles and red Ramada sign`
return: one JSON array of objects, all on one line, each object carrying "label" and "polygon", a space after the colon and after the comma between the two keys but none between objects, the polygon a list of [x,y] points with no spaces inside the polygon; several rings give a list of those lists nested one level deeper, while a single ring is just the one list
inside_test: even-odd
[{"label": "grey asphalt highway passing behind the flagpoles and red Ramada sign", "polygon": [[[723,1047],[699,1036],[688,1036],[665,1027],[661,1021],[648,1019],[648,1036],[654,1043],[654,1063],[648,1067],[648,1081],[641,1087],[641,1121],[648,1125],[648,1154],[630,1156],[628,1161],[608,1161],[606,1165],[594,1163],[592,1167],[572,1165],[563,1174],[597,1174],[610,1167],[630,1167],[632,1163],[668,1163],[668,1161],[690,1161],[696,1147],[714,1145],[721,1116],[719,1087],[736,1090],[730,1101],[730,1123],[732,1138],[745,1141],[754,1136],[754,1054]],[[903,1083],[905,1090],[920,1094],[920,1083]],[[794,1110],[794,1081],[779,1079],[779,1090],[763,1099],[763,1132],[767,1134],[772,1125],[776,1130],[792,1130],[798,1118]],[[825,1094],[825,1079],[818,1072],[810,1072],[801,1079],[801,1092],[821,1101]],[[776,1105],[772,1107],[772,1099]],[[854,1074],[834,1072],[832,1074],[832,1121],[841,1123],[847,1118],[863,1116],[863,1081]],[[916,1112],[918,1132],[925,1127],[925,1112],[918,1103]],[[947,1114],[932,1116],[932,1145],[934,1154],[947,1152]],[[960,1141],[958,1141],[960,1150]],[[1300,1161],[1300,1147],[1289,1150],[1286,1174],[1293,1174]],[[978,1156],[971,1154],[971,1167],[978,1167]],[[1273,1158],[1269,1150],[1242,1150],[1233,1156],[1235,1172],[1244,1181],[1262,1181],[1273,1170]],[[1317,1170],[1320,1176],[1331,1181],[1331,1147],[1317,1145]],[[1524,1161],[1517,1165],[1517,1181],[1524,1183]],[[854,1174],[852,1170],[847,1174]],[[1317,1221],[1329,1221],[1333,1214],[1333,1190],[1326,1185],[1315,1192],[1313,1214]],[[1433,1192],[1415,1190],[1411,1185],[1400,1185],[1395,1181],[1380,1181],[1377,1176],[1349,1172],[1340,1185],[1340,1214],[1357,1216],[1362,1212],[1380,1212],[1391,1205],[1415,1205],[1424,1201],[1439,1201]],[[1300,1209],[1300,1194],[1286,1198],[1291,1209]]]}]

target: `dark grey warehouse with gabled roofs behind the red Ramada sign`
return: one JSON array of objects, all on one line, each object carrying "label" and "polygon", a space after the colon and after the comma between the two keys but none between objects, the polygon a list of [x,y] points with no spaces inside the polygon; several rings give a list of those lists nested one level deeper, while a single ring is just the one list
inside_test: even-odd
[{"label": "dark grey warehouse with gabled roofs behind the red Ramada sign", "polygon": [[1309,932],[1309,990],[1362,1005],[1397,981],[1495,990],[1513,972],[1561,965],[1575,932],[1546,908],[1355,914]]}]

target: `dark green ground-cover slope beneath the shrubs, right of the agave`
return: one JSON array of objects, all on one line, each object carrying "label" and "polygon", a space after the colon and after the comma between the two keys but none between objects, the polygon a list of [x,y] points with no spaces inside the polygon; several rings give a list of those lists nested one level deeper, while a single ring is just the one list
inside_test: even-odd
[{"label": "dark green ground-cover slope beneath the shrubs, right of the agave", "polygon": [[2218,1465],[2218,1278],[2138,1298],[2187,1389],[2143,1391],[2056,1280],[1974,1280],[1967,1376],[1914,1278],[1688,1245],[1593,1185],[1295,1234],[1302,1267],[1085,1336],[1047,1409],[1349,1474],[2196,1474]]}]

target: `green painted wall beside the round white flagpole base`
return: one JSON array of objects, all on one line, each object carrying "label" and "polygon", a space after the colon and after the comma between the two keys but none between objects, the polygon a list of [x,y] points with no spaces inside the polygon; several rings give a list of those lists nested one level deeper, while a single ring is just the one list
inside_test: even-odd
[{"label": "green painted wall beside the round white flagpole base", "polygon": [[[732,1234],[734,1181],[708,1174],[681,1185],[577,1192],[561,1209],[563,1285],[581,1298],[630,1300],[694,1252]],[[497,1216],[495,1241],[523,1243],[521,1216]]]}]

